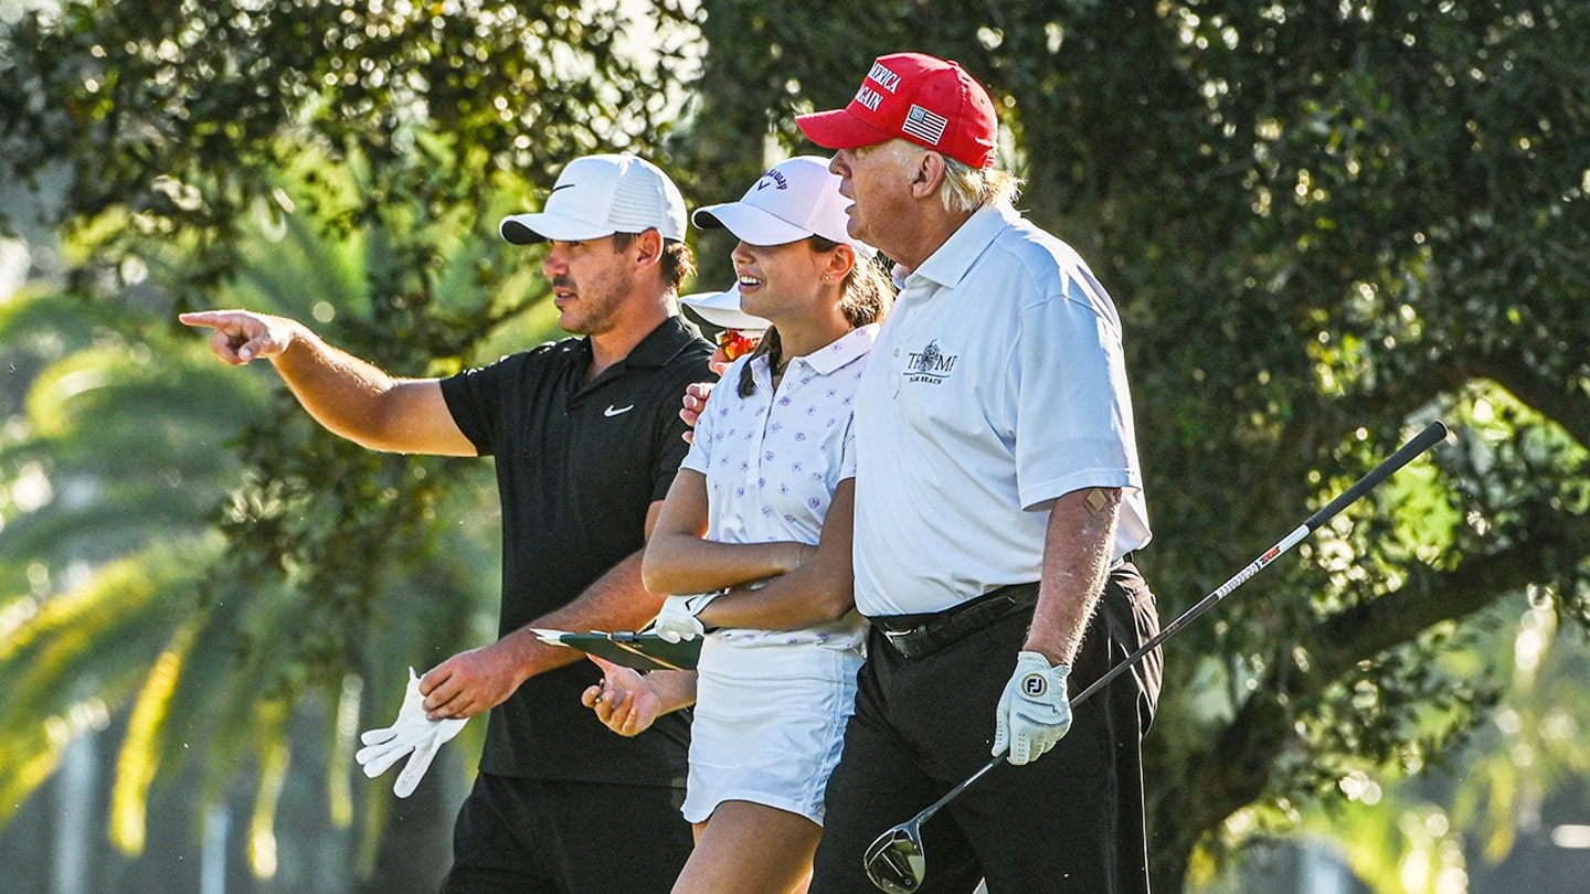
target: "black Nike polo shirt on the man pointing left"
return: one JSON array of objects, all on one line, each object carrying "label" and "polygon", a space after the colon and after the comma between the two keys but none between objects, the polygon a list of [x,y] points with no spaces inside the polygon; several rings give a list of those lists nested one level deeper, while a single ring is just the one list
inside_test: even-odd
[{"label": "black Nike polo shirt on the man pointing left", "polygon": [[[679,401],[712,379],[712,347],[677,317],[584,385],[588,339],[564,339],[442,380],[458,428],[496,457],[502,501],[501,635],[563,608],[646,546],[646,512],[668,495],[688,444]],[[590,662],[537,674],[491,709],[487,773],[682,784],[690,714],[620,737],[580,705]]]}]

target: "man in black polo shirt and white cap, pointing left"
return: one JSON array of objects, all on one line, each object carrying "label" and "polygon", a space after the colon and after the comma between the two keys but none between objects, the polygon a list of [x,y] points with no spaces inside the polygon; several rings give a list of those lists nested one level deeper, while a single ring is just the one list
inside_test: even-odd
[{"label": "man in black polo shirt and white cap, pointing left", "polygon": [[[528,625],[633,630],[661,597],[641,549],[687,444],[679,398],[712,348],[674,315],[692,261],[684,199],[630,154],[569,162],[539,213],[502,221],[550,242],[566,339],[452,379],[393,379],[304,325],[184,313],[232,364],[264,356],[326,428],[377,450],[496,457],[502,501],[499,639],[420,682],[431,719],[491,709],[480,775],[444,891],[668,891],[690,853],[677,811],[688,716],[615,737],[580,705],[591,668]],[[636,838],[644,838],[636,846]]]}]

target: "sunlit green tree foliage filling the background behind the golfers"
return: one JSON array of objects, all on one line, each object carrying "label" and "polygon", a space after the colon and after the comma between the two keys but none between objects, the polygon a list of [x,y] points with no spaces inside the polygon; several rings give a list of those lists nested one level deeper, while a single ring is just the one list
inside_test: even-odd
[{"label": "sunlit green tree foliage filling the background behind the golfers", "polygon": [[[137,690],[134,713],[159,717],[138,740],[156,781],[173,743],[202,741],[219,786],[285,705],[342,702],[350,678],[396,700],[394,655],[490,616],[493,552],[482,463],[345,445],[248,372],[205,367],[192,336],[173,347],[170,310],[288,312],[399,374],[493,360],[547,320],[494,221],[568,157],[639,148],[696,200],[738,196],[768,146],[811,151],[793,113],[843,105],[874,56],[903,48],[991,86],[1022,207],[1121,309],[1156,528],[1138,560],[1164,617],[1423,422],[1456,433],[1169,646],[1150,740],[1158,884],[1313,805],[1356,826],[1366,779],[1390,791],[1517,748],[1487,719],[1544,695],[1506,687],[1506,606],[1531,593],[1565,652],[1590,624],[1590,5],[882,0],[814,16],[704,0],[647,14],[676,30],[646,62],[620,52],[609,6],[555,2],[68,3],[0,33],[0,180],[70,183],[56,212],[78,296],[0,304],[0,355],[19,371],[0,379],[0,410],[30,401],[0,436],[0,592],[19,595],[0,630],[27,627],[21,595],[45,604],[67,555],[51,544],[75,531],[92,536],[73,549],[103,558],[145,555],[172,525],[205,549],[200,531],[219,531],[226,549],[191,584],[200,608],[162,616],[138,652],[176,655],[180,673],[102,698]],[[727,248],[701,237],[704,285],[727,280]],[[130,401],[154,409],[129,422]],[[142,452],[181,457],[188,499],[138,471]],[[68,468],[103,488],[70,512]],[[46,484],[57,499],[37,507]],[[129,534],[138,506],[149,525]],[[1490,795],[1463,794],[1452,818],[1482,829],[1503,826],[1479,805],[1541,784],[1476,778]],[[1355,865],[1390,880],[1386,854],[1417,848],[1452,865],[1434,816],[1418,803],[1386,819],[1369,835],[1383,859],[1355,851]]]}]

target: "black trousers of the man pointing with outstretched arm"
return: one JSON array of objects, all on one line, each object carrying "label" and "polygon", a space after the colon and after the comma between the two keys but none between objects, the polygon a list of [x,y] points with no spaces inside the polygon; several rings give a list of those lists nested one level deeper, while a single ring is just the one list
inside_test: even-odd
[{"label": "black trousers of the man pointing with outstretched arm", "polygon": [[444,894],[666,894],[695,837],[684,791],[480,773]]}]

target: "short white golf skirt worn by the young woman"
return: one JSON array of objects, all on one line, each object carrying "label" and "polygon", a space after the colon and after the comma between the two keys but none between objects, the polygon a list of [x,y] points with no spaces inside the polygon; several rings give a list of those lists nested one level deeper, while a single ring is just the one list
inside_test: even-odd
[{"label": "short white golf skirt worn by the young woman", "polygon": [[696,665],[685,819],[703,822],[725,800],[744,800],[822,826],[822,791],[855,713],[860,667],[859,649],[741,647],[708,636]]}]

